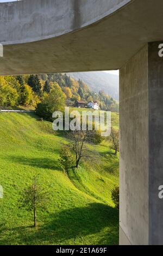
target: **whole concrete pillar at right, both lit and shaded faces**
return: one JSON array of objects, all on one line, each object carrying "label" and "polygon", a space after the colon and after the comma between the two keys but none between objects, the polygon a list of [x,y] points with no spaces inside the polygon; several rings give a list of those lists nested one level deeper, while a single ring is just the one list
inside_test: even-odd
[{"label": "whole concrete pillar at right, both lit and shaded faces", "polygon": [[163,245],[160,44],[147,44],[120,70],[120,245]]}]

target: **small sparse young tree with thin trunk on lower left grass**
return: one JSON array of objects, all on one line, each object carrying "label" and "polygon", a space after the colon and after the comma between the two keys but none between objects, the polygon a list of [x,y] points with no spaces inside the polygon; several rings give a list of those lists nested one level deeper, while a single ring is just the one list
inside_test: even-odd
[{"label": "small sparse young tree with thin trunk on lower left grass", "polygon": [[34,227],[37,225],[37,210],[45,210],[48,199],[47,191],[38,182],[38,175],[34,175],[32,184],[24,188],[18,202],[19,208],[33,211]]}]

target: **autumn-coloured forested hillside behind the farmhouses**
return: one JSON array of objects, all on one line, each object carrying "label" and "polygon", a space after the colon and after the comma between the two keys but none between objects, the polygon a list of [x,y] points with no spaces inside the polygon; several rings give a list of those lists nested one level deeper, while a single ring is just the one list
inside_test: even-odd
[{"label": "autumn-coloured forested hillside behind the farmhouses", "polygon": [[[104,111],[118,112],[118,102],[103,90],[91,90],[82,80],[66,74],[20,75],[0,77],[0,106],[30,106],[35,108],[49,94],[62,91],[67,106],[74,106],[76,100],[97,101]],[[55,89],[55,90],[54,90]],[[55,91],[55,92],[54,92]]]}]

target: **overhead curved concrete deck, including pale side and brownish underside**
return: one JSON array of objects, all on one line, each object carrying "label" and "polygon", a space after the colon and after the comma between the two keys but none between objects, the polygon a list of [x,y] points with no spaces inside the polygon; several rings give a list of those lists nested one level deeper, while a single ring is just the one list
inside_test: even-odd
[{"label": "overhead curved concrete deck, including pale side and brownish underside", "polygon": [[162,0],[22,0],[0,7],[2,75],[118,69],[163,38]]}]

